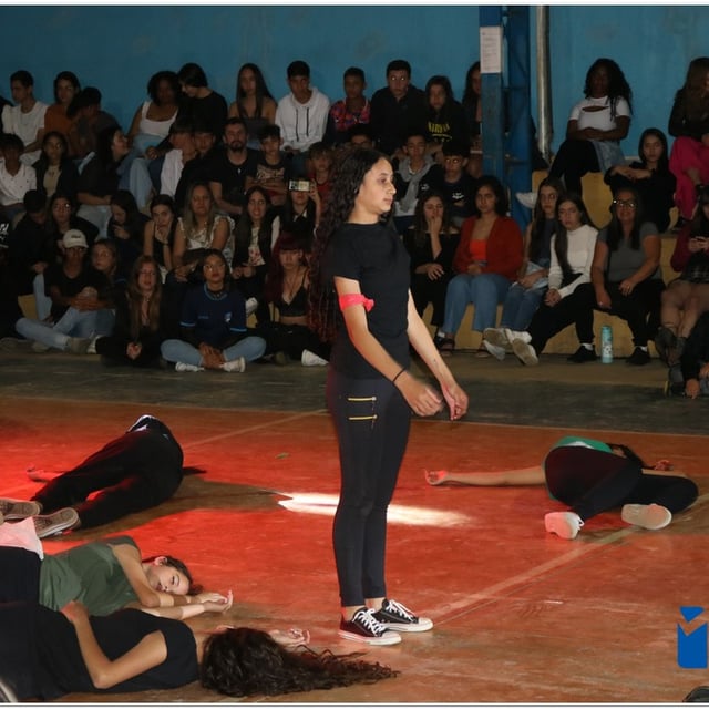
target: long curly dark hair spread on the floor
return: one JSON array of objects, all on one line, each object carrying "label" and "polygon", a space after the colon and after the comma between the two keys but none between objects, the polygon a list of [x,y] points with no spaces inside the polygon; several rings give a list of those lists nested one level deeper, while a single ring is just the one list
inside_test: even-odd
[{"label": "long curly dark hair spread on the floor", "polygon": [[199,679],[207,689],[248,697],[349,687],[398,675],[357,656],[315,653],[305,646],[288,650],[263,630],[230,628],[206,641]]}]

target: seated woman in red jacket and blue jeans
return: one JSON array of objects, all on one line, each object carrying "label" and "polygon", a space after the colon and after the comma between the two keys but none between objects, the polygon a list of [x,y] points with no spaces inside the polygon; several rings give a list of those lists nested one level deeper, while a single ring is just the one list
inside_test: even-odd
[{"label": "seated woman in red jacket and blue jeans", "polygon": [[[442,353],[455,349],[455,332],[469,302],[475,306],[473,330],[494,327],[497,305],[516,280],[522,265],[522,233],[507,213],[505,188],[483,175],[475,191],[475,215],[463,222],[453,257],[453,277],[445,295],[445,319],[435,336]],[[486,350],[481,350],[483,357]]]}]

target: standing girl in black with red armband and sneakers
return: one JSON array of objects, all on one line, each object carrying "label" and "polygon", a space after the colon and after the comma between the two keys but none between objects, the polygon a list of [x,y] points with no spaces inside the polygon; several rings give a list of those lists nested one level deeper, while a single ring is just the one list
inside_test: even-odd
[{"label": "standing girl in black with red armband and sneakers", "polygon": [[[381,153],[347,155],[333,176],[311,259],[311,325],[320,339],[335,336],[327,398],[340,448],[333,525],[339,634],[371,645],[392,645],[401,640],[395,630],[433,625],[389,599],[384,582],[387,507],[411,410],[432,415],[443,399],[452,420],[467,410],[467,395],[417,314],[403,244],[382,220],[394,195],[393,171]],[[341,311],[337,323],[335,295]],[[439,380],[442,397],[409,371],[409,345]]]}]

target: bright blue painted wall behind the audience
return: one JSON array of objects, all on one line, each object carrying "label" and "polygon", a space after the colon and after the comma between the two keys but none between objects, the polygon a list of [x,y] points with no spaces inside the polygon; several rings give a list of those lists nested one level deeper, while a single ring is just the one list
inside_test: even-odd
[{"label": "bright blue painted wall behind the audience", "polygon": [[[549,16],[554,147],[597,56],[615,59],[633,86],[635,119],[624,143],[633,155],[643,129],[666,130],[689,60],[709,54],[707,7],[553,6]],[[333,100],[341,96],[347,66],[364,69],[371,94],[384,83],[387,62],[399,56],[411,62],[417,85],[448,74],[460,97],[465,71],[479,55],[476,6],[4,6],[0,27],[0,93],[9,97],[10,73],[27,69],[35,78],[35,95],[51,102],[54,75],[69,69],[82,85],[101,89],[104,107],[126,129],[150,75],[187,61],[202,64],[230,102],[246,61],[261,66],[279,99],[287,91],[287,64],[305,59],[312,83]],[[535,111],[534,69],[532,80]]]}]

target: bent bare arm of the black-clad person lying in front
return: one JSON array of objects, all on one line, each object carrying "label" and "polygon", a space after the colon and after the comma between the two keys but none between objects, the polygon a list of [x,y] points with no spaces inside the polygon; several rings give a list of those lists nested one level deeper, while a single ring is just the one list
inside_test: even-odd
[{"label": "bent bare arm of the black-clad person lying in front", "polygon": [[96,640],[86,608],[82,604],[71,600],[62,608],[62,613],[74,626],[81,657],[96,689],[109,689],[137,677],[148,669],[157,667],[167,658],[165,637],[156,630],[146,635],[121,657],[110,660]]}]

